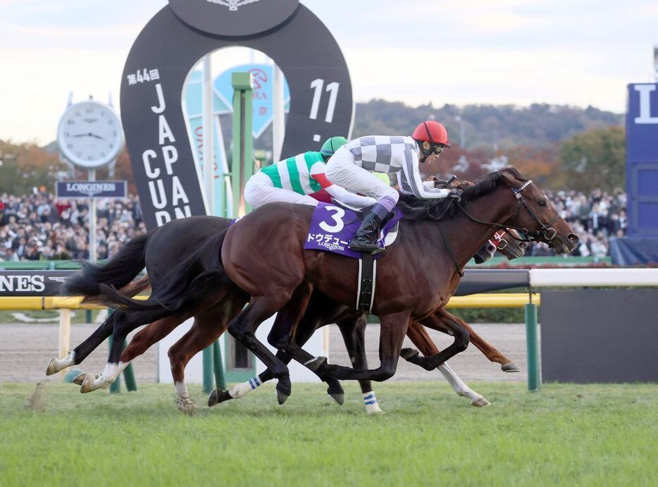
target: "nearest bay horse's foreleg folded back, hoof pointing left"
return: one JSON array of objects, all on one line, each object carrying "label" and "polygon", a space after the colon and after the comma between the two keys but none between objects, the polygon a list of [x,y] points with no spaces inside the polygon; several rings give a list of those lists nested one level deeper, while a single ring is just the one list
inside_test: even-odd
[{"label": "nearest bay horse's foreleg folded back, hoof pointing left", "polygon": [[391,378],[397,369],[402,342],[409,324],[409,312],[380,316],[379,359],[377,369],[357,370],[340,365],[321,364],[321,372],[344,380],[369,380],[382,382]]}]

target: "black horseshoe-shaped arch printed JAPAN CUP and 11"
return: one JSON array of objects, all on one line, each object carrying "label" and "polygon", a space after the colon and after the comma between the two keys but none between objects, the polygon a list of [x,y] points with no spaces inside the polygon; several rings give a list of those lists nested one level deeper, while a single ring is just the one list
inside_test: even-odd
[{"label": "black horseshoe-shaped arch printed JAPAN CUP and 11", "polygon": [[121,119],[149,229],[205,213],[182,87],[199,59],[233,46],[258,49],[283,70],[290,88],[283,156],[349,137],[347,65],[327,27],[298,0],[170,0],[135,40],[121,80]]}]

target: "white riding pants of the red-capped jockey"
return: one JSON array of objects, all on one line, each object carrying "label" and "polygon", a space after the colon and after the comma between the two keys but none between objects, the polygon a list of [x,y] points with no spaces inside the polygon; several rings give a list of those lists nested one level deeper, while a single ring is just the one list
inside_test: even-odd
[{"label": "white riding pants of the red-capped jockey", "polygon": [[357,166],[352,154],[342,147],[329,159],[325,174],[332,183],[342,186],[346,190],[373,197],[377,201],[390,197],[397,203],[399,198],[399,193],[394,188],[370,171]]}]

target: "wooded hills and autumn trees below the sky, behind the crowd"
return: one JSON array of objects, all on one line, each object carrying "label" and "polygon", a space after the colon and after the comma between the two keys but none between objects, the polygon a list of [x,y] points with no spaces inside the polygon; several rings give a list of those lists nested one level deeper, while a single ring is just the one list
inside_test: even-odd
[{"label": "wooded hills and autumn trees below the sky, behind the crowd", "polygon": [[[612,191],[625,184],[623,115],[591,106],[413,107],[375,99],[356,104],[352,137],[406,135],[418,121],[428,119],[446,126],[452,148],[433,166],[423,167],[426,175],[454,173],[474,180],[490,170],[514,166],[538,180],[542,187],[554,189]],[[225,141],[230,141],[232,124],[222,125]],[[256,141],[256,149],[271,149],[268,132]],[[230,156],[230,150],[227,152]],[[25,194],[40,186],[51,189],[66,169],[66,164],[59,161],[54,142],[39,147],[30,142],[0,140],[0,195]],[[99,171],[97,177],[106,178],[104,172]],[[75,177],[85,178],[86,174],[78,171]],[[119,156],[114,178],[128,180],[129,192],[135,193],[130,158],[125,150]]]}]

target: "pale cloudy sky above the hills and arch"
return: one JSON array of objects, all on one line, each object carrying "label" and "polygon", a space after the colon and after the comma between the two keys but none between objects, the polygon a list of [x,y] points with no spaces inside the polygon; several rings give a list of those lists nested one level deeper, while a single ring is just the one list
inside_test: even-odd
[{"label": "pale cloudy sky above the hills and arch", "polygon": [[[275,0],[261,0],[275,1]],[[0,139],[55,139],[69,92],[119,102],[125,58],[166,0],[0,0]],[[356,101],[569,104],[623,113],[653,80],[655,0],[302,0],[333,33]],[[213,55],[213,68],[248,61]],[[256,55],[256,61],[263,57]]]}]

